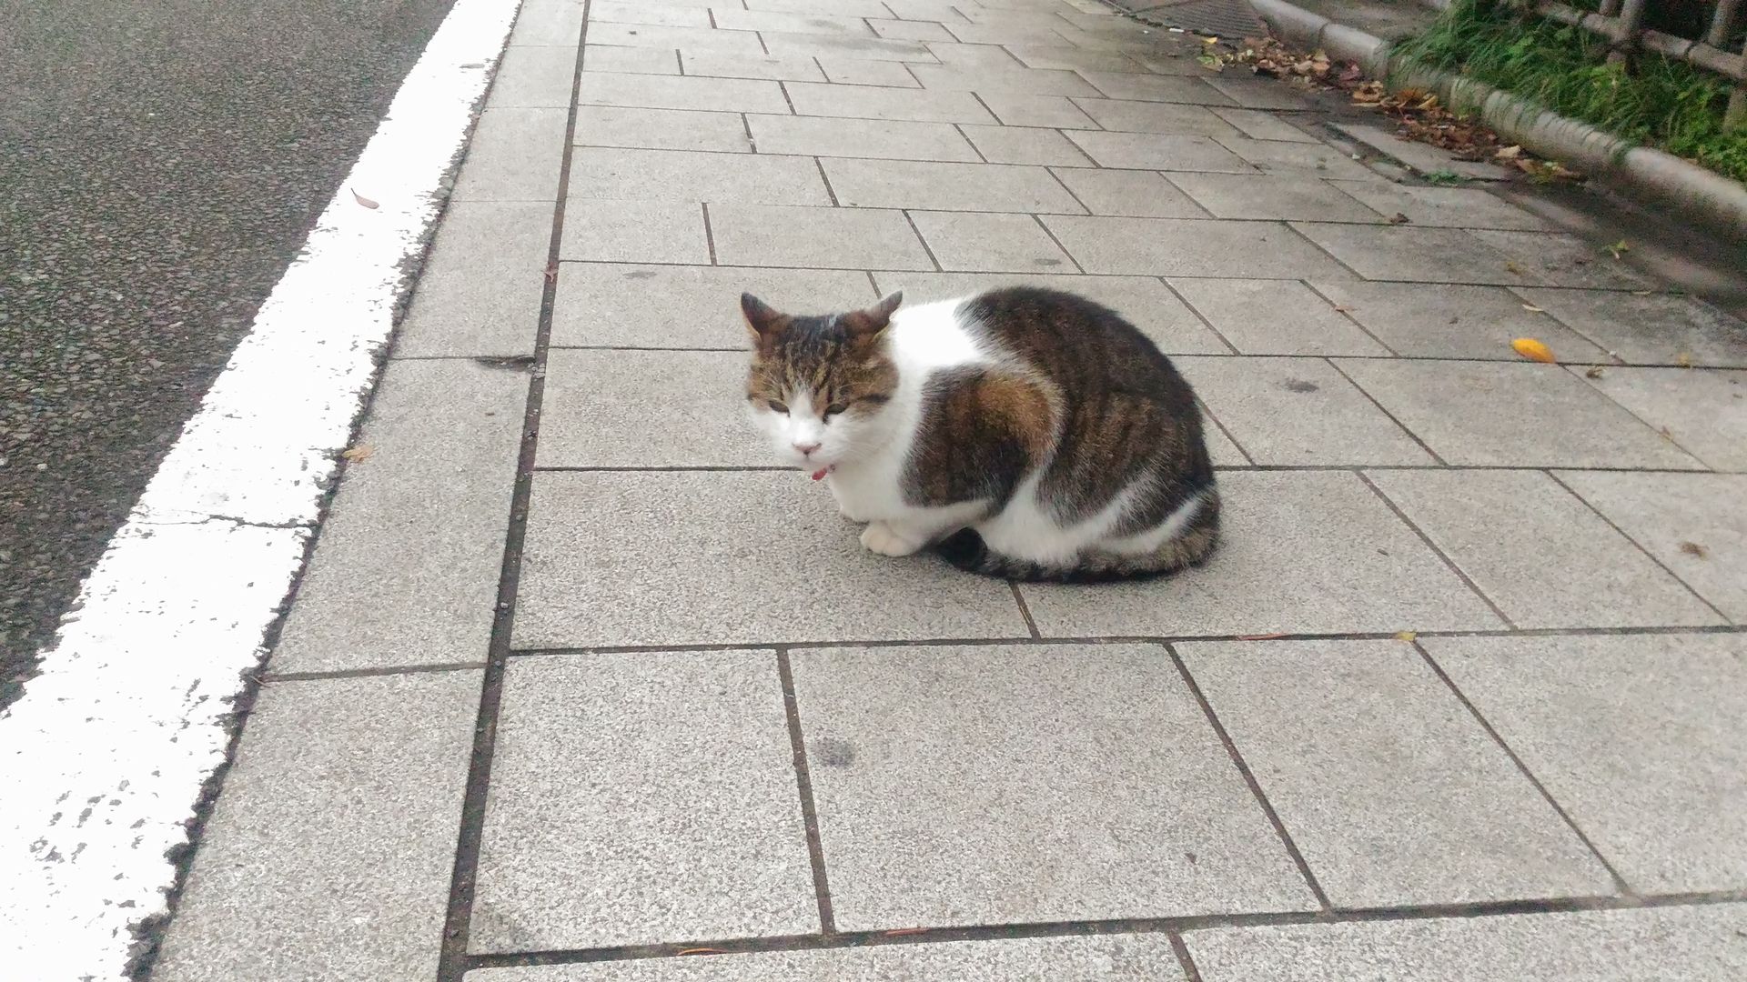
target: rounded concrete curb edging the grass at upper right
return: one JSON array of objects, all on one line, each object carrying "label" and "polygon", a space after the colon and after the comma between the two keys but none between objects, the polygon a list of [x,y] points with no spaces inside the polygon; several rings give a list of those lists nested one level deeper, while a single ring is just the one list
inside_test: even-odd
[{"label": "rounded concrete curb edging the grass at upper right", "polygon": [[1284,0],[1249,0],[1249,5],[1284,40],[1305,49],[1321,47],[1338,61],[1356,61],[1370,77],[1384,79],[1391,89],[1434,91],[1445,105],[1480,115],[1499,136],[1534,154],[1569,164],[1602,183],[1665,204],[1707,229],[1747,243],[1747,187],[1738,182],[1663,150],[1632,147],[1611,133],[1544,110],[1485,82],[1391,58],[1389,42]]}]

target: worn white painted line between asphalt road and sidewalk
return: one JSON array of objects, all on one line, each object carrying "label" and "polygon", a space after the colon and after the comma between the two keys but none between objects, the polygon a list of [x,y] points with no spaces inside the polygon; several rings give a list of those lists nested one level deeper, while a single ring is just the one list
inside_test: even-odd
[{"label": "worn white painted line between asphalt road and sidewalk", "polygon": [[[0,713],[0,979],[122,979],[517,0],[456,0],[388,117]],[[376,203],[369,208],[358,201]],[[266,886],[266,884],[264,884]]]}]

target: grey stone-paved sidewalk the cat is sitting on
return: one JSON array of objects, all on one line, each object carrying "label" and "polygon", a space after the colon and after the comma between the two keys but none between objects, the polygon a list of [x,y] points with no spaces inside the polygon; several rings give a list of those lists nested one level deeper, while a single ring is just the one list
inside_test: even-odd
[{"label": "grey stone-paved sidewalk the cat is sitting on", "polygon": [[[1747,977],[1747,325],[1094,0],[708,2],[524,3],[154,979]],[[741,290],[1013,281],[1195,384],[1211,564],[769,467]]]}]

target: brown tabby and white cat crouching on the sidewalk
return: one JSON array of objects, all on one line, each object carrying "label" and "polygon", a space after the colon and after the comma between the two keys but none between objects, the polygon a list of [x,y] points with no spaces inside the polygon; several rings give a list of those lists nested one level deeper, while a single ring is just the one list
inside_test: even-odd
[{"label": "brown tabby and white cat crouching on the sidewalk", "polygon": [[1012,580],[1099,582],[1207,559],[1219,491],[1190,384],[1111,309],[1010,287],[793,316],[751,294],[746,400],[826,481],[861,545],[935,547]]}]

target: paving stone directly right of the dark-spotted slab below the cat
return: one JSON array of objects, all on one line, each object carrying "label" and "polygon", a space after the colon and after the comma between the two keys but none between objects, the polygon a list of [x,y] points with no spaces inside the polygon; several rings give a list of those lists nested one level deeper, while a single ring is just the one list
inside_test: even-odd
[{"label": "paving stone directly right of the dark-spotted slab below the cat", "polygon": [[1191,641],[1179,654],[1335,907],[1614,891],[1412,645]]}]

